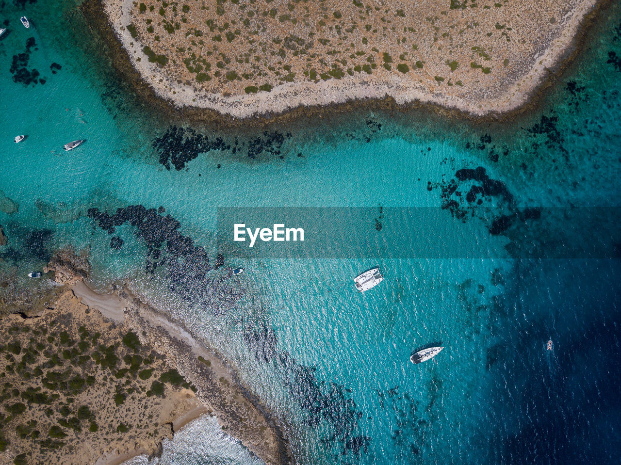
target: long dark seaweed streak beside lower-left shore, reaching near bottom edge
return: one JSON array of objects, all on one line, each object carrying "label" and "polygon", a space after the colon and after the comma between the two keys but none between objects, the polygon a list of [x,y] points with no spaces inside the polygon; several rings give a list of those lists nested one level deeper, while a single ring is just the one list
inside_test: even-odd
[{"label": "long dark seaweed streak beside lower-left shore, reaching near bottom edge", "polygon": [[291,398],[307,412],[307,425],[313,428],[320,423],[329,425],[329,433],[322,443],[332,449],[335,463],[341,458],[346,461],[359,458],[368,451],[371,438],[356,434],[363,413],[351,399],[349,389],[336,382],[319,381],[315,367],[297,363],[287,351],[278,348],[278,338],[266,323],[247,325],[243,337],[257,361],[274,363]]}]

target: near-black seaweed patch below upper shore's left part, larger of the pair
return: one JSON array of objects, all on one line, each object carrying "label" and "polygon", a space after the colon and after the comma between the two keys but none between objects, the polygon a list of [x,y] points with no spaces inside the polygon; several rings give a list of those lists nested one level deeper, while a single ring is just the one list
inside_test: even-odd
[{"label": "near-black seaweed patch below upper shore's left part, larger of the pair", "polygon": [[185,168],[189,161],[194,160],[199,153],[211,150],[230,150],[230,145],[222,137],[212,140],[206,135],[194,132],[193,129],[171,126],[153,142],[153,148],[160,153],[160,163],[170,169],[170,164],[177,171]]}]

